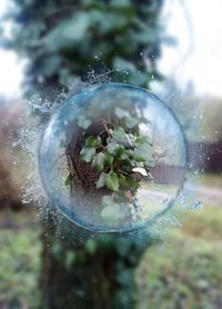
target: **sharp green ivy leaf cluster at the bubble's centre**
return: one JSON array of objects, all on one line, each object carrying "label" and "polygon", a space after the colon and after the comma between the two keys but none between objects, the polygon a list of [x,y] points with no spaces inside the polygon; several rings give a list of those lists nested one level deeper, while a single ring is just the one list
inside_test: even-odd
[{"label": "sharp green ivy leaf cluster at the bubble's centre", "polygon": [[[98,172],[98,189],[107,187],[111,191],[134,193],[142,176],[148,175],[154,166],[152,144],[139,133],[139,117],[132,117],[128,110],[119,107],[114,113],[117,117],[113,121],[100,119],[102,130],[97,136],[85,138],[80,159],[91,163]],[[91,122],[85,119],[83,124],[85,121]],[[85,129],[82,122],[79,124]],[[87,136],[87,131],[83,134]]]}]

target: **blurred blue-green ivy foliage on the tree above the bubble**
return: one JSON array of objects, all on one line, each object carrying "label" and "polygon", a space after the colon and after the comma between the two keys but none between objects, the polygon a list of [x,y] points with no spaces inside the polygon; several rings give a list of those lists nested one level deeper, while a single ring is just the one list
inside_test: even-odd
[{"label": "blurred blue-green ivy foliage on the tree above the bubble", "polygon": [[13,37],[4,38],[4,46],[29,59],[24,86],[30,94],[36,87],[52,98],[74,77],[93,80],[94,73],[113,69],[113,80],[143,87],[152,76],[161,77],[155,59],[163,37],[162,0],[13,2],[7,16],[14,21]]}]

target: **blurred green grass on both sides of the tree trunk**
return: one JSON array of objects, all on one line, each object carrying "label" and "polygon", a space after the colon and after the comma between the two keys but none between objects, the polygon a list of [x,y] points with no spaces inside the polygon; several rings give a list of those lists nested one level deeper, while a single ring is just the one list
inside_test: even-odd
[{"label": "blurred green grass on both sides of the tree trunk", "polygon": [[[221,309],[222,207],[179,217],[182,227],[152,246],[137,270],[138,309]],[[3,221],[16,226],[0,230],[0,308],[37,308],[38,226],[21,212],[1,213]]]}]

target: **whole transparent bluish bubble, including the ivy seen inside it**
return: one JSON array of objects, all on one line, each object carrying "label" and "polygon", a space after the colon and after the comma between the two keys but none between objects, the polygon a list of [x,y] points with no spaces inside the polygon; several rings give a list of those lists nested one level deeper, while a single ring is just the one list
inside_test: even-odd
[{"label": "whole transparent bluish bubble, including the ivy seen inside it", "polygon": [[53,113],[39,169],[49,201],[69,220],[93,231],[130,231],[173,206],[186,147],[162,101],[111,82],[80,90]]}]

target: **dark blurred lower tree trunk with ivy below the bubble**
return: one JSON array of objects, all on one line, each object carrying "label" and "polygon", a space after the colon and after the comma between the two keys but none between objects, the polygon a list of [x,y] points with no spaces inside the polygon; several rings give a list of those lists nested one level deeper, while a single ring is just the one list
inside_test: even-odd
[{"label": "dark blurred lower tree trunk with ivy below the bubble", "polygon": [[67,219],[43,222],[42,308],[134,308],[134,269],[148,235],[101,235]]}]

